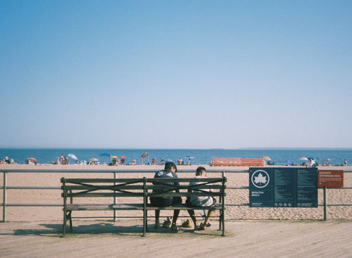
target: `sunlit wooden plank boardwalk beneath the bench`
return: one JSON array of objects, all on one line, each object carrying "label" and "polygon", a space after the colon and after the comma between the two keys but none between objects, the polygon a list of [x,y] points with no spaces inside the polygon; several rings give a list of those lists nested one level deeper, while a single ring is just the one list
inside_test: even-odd
[{"label": "sunlit wooden plank boardwalk beneath the bench", "polygon": [[74,221],[61,238],[62,221],[0,223],[0,257],[352,257],[352,221],[226,221],[207,231],[153,231],[142,221]]}]

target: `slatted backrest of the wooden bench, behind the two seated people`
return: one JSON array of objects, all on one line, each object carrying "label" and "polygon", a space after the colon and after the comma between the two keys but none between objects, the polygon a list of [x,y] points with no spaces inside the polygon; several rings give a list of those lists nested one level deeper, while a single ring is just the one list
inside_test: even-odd
[{"label": "slatted backrest of the wooden bench, behind the two seated people", "polygon": [[[225,196],[226,178],[61,178],[62,197]],[[178,183],[175,185],[175,183]],[[197,183],[196,185],[189,185]],[[160,189],[163,190],[160,190]],[[153,192],[154,190],[154,192]],[[212,190],[212,192],[209,192]],[[155,192],[156,191],[156,192]]]}]

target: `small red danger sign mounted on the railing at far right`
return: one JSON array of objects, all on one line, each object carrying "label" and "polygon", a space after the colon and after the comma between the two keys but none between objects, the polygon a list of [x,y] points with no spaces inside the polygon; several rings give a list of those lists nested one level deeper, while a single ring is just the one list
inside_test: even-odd
[{"label": "small red danger sign mounted on the railing at far right", "polygon": [[344,171],[343,170],[319,170],[318,187],[319,188],[343,188]]}]

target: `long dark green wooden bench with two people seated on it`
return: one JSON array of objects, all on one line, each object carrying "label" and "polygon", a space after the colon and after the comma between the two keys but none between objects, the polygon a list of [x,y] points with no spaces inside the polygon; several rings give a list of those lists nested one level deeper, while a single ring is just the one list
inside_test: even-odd
[{"label": "long dark green wooden bench with two people seated on it", "polygon": [[[175,182],[180,185],[173,185]],[[198,185],[189,186],[191,182]],[[69,221],[70,231],[73,231],[73,211],[106,211],[106,210],[137,210],[143,214],[143,236],[146,235],[149,210],[219,210],[219,229],[225,235],[225,189],[226,178],[61,178],[63,197],[63,237]],[[153,192],[157,185],[163,185],[163,192]],[[206,189],[213,189],[208,192]],[[196,190],[196,192],[190,190]],[[173,192],[170,192],[173,191]],[[213,196],[218,203],[212,207],[188,207],[177,204],[171,207],[153,207],[149,197],[192,197]],[[113,202],[101,203],[99,198],[108,198]],[[87,198],[88,203],[77,202],[77,198]],[[68,202],[70,199],[70,202]],[[74,202],[75,200],[75,202]],[[117,200],[117,201],[116,201]],[[122,201],[123,200],[123,201]],[[126,202],[128,200],[130,202]],[[86,201],[86,199],[84,199]]]}]

